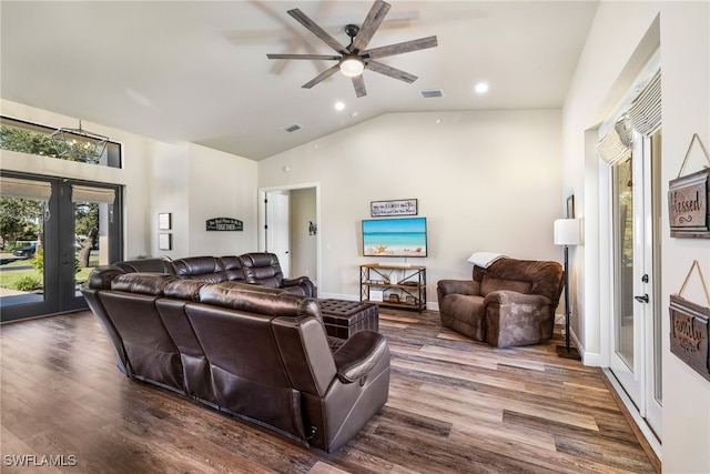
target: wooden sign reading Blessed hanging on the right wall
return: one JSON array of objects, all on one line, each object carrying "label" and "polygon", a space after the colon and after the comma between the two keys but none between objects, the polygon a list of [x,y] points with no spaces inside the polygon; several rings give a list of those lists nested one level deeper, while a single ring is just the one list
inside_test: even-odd
[{"label": "wooden sign reading Blessed hanging on the right wall", "polygon": [[671,236],[710,238],[708,177],[710,177],[710,171],[702,170],[668,183],[668,216]]}]

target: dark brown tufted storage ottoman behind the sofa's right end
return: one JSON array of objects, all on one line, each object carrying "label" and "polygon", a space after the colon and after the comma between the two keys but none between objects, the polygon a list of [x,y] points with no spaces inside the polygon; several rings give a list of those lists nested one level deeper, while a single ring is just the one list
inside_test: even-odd
[{"label": "dark brown tufted storage ottoman behind the sofa's right end", "polygon": [[379,306],[345,300],[318,300],[328,335],[348,339],[358,331],[379,329]]}]

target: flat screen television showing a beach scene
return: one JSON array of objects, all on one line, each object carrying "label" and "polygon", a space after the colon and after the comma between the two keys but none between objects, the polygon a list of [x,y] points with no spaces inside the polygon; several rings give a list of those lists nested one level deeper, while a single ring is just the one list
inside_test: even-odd
[{"label": "flat screen television showing a beach scene", "polygon": [[426,256],[426,218],[364,219],[364,256]]}]

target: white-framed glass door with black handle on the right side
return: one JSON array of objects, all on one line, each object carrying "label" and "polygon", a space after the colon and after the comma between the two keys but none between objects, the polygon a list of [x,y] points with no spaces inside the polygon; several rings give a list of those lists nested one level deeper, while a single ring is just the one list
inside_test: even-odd
[{"label": "white-framed glass door with black handle on the right side", "polygon": [[660,437],[660,140],[635,133],[612,165],[613,311],[610,369]]}]

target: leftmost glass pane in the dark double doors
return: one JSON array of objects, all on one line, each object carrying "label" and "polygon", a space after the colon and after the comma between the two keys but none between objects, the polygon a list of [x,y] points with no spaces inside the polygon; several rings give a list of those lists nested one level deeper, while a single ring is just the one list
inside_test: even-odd
[{"label": "leftmost glass pane in the dark double doors", "polygon": [[0,194],[0,305],[44,301],[45,201]]}]

